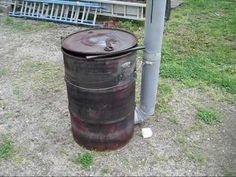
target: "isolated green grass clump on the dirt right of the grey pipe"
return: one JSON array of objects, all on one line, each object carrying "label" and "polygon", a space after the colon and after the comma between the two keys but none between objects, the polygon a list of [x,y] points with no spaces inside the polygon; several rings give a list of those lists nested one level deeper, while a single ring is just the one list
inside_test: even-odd
[{"label": "isolated green grass clump on the dirt right of the grey pipe", "polygon": [[197,113],[197,118],[206,124],[215,124],[222,122],[221,116],[209,108],[200,108]]}]

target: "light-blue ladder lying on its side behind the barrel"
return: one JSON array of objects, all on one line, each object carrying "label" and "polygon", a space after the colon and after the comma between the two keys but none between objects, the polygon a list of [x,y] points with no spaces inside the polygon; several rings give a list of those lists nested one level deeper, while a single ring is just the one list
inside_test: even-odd
[{"label": "light-blue ladder lying on its side behind the barrel", "polygon": [[[101,26],[96,24],[101,3],[68,0],[22,0],[15,1],[10,16],[53,22]],[[91,13],[93,11],[93,13]]]}]

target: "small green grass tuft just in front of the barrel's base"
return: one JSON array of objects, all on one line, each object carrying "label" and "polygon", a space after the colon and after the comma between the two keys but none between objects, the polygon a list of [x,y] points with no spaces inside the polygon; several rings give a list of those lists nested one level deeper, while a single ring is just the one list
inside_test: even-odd
[{"label": "small green grass tuft just in front of the barrel's base", "polygon": [[89,152],[79,154],[74,162],[80,164],[83,168],[88,169],[93,163],[93,155]]}]

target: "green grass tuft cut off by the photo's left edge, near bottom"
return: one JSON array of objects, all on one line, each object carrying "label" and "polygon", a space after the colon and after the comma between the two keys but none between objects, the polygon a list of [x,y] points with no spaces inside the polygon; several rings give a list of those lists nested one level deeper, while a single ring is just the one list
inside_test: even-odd
[{"label": "green grass tuft cut off by the photo's left edge, near bottom", "polygon": [[12,137],[10,134],[4,134],[0,141],[0,158],[8,158],[13,153]]}]

